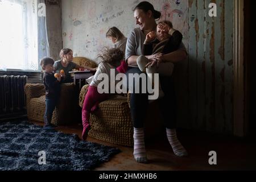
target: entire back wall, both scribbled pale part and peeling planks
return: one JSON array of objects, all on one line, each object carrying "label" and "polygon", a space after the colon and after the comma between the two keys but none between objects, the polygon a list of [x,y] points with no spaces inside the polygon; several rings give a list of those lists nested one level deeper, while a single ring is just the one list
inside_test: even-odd
[{"label": "entire back wall, both scribbled pale part and peeling planks", "polygon": [[[63,0],[63,46],[75,56],[95,60],[110,46],[106,31],[118,27],[125,36],[136,27],[133,7],[141,1]],[[177,126],[233,134],[233,15],[229,0],[155,0],[161,19],[181,31],[188,59],[175,64]],[[210,17],[209,4],[217,16]]]}]

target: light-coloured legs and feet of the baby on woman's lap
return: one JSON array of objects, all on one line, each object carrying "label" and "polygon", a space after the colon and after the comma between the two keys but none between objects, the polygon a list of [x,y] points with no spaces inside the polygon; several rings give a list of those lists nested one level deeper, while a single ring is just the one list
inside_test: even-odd
[{"label": "light-coloured legs and feet of the baby on woman's lap", "polygon": [[[139,67],[139,69],[148,74],[148,78],[150,79],[150,82],[152,83],[152,86],[155,85],[155,80],[154,80],[154,74],[158,73],[156,71],[156,66],[154,67],[150,67],[150,68],[146,68],[146,65],[149,63],[150,60],[147,59],[147,57],[145,56],[139,56],[137,58],[137,65]],[[161,84],[160,84],[160,80],[158,80],[159,82],[159,97],[158,98],[162,98],[164,96],[164,92],[162,90]]]}]

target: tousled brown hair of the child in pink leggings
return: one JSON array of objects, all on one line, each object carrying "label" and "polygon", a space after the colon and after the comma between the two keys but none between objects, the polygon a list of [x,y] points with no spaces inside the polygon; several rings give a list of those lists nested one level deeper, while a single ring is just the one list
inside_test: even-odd
[{"label": "tousled brown hair of the child in pink leggings", "polygon": [[104,47],[101,52],[102,53],[101,55],[98,55],[98,58],[102,59],[102,63],[109,63],[113,67],[118,67],[123,56],[125,56],[125,53],[119,48]]}]

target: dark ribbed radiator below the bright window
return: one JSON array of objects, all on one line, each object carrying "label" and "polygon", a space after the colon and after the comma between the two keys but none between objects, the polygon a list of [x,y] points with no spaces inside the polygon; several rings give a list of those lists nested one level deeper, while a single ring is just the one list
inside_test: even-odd
[{"label": "dark ribbed radiator below the bright window", "polygon": [[27,76],[0,76],[0,115],[26,113]]}]

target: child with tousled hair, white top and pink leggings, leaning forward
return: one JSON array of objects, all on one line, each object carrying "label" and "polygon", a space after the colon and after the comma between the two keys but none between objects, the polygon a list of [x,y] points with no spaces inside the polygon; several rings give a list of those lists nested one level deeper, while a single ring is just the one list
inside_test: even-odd
[{"label": "child with tousled hair, white top and pink leggings, leaning forward", "polygon": [[101,92],[99,93],[98,85],[102,81],[101,73],[105,73],[109,76],[109,88],[110,88],[110,70],[114,69],[115,75],[119,73],[125,73],[127,70],[127,64],[125,61],[122,61],[124,53],[119,48],[105,48],[102,51],[102,55],[99,57],[103,60],[97,68],[95,75],[90,82],[88,92],[86,93],[84,105],[82,106],[82,139],[86,140],[88,132],[90,130],[90,113],[97,109],[97,106],[100,102],[105,101],[109,97],[109,93]]}]

